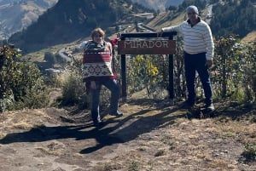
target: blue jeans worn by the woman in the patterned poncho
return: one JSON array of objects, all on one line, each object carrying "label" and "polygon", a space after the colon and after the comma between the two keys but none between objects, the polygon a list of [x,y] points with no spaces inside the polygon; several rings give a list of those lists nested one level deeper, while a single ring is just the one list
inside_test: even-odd
[{"label": "blue jeans worn by the woman in the patterned poncho", "polygon": [[94,123],[101,122],[100,115],[100,94],[102,85],[111,92],[109,113],[115,114],[119,105],[119,85],[116,80],[108,79],[96,81],[96,89],[91,89],[91,118]]}]

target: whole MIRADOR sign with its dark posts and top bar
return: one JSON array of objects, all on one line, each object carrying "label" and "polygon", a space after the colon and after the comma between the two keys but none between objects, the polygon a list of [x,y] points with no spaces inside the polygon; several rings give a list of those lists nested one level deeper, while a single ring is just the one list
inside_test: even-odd
[{"label": "whole MIRADOR sign with its dark posts and top bar", "polygon": [[[121,34],[120,41],[118,43],[118,53],[121,54],[122,100],[124,102],[126,102],[127,100],[125,55],[126,54],[168,54],[169,55],[169,89],[168,91],[169,91],[169,99],[172,100],[172,103],[173,103],[173,100],[174,100],[173,54],[176,54],[176,42],[173,41],[174,35],[177,35],[176,31],[164,32],[161,35],[162,38],[158,37],[156,32],[134,32],[134,33]],[[147,38],[149,37],[155,38],[155,40],[148,40]],[[125,40],[126,38],[129,38],[129,40]],[[140,38],[140,39],[131,40],[131,38]],[[141,38],[144,38],[144,40]],[[153,42],[149,42],[149,41],[153,41]],[[127,42],[126,46],[125,46],[125,42]]]}]

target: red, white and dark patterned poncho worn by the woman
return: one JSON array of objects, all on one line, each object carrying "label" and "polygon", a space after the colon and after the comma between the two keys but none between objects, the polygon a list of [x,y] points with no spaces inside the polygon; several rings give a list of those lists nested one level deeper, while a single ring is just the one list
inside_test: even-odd
[{"label": "red, white and dark patterned poncho worn by the woman", "polygon": [[83,81],[116,79],[113,71],[113,56],[111,43],[96,44],[92,41],[86,44],[83,58]]}]

